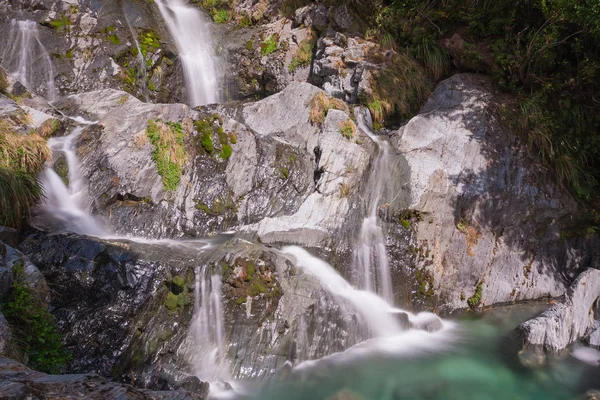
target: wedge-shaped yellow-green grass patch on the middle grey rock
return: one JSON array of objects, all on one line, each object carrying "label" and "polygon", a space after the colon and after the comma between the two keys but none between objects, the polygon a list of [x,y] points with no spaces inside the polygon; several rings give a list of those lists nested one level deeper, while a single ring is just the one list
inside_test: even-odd
[{"label": "wedge-shaped yellow-green grass patch on the middle grey rock", "polygon": [[181,124],[148,120],[146,135],[154,146],[152,160],[156,164],[158,174],[162,177],[165,190],[177,189],[183,165],[187,161]]}]

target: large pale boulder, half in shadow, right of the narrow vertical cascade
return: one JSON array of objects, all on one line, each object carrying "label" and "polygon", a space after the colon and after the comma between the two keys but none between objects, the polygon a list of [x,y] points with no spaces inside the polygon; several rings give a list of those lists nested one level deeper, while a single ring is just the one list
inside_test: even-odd
[{"label": "large pale boulder, half in shadow, right of the narrow vertical cascade", "polygon": [[559,296],[599,248],[561,239],[576,204],[503,131],[497,101],[489,81],[455,75],[393,139],[443,310]]}]

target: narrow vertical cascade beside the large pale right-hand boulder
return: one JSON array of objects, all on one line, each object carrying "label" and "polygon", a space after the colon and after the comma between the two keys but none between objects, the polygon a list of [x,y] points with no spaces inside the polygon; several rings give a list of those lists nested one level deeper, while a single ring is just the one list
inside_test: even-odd
[{"label": "narrow vertical cascade beside the large pale right-hand boulder", "polygon": [[390,176],[390,145],[380,139],[369,128],[370,114],[364,108],[357,108],[355,114],[359,127],[366,132],[379,148],[373,170],[367,181],[367,213],[362,222],[356,251],[353,255],[352,270],[356,284],[365,290],[380,293],[388,302],[393,301],[392,278],[386,253],[385,237],[378,224],[378,210],[385,194],[386,178]]}]

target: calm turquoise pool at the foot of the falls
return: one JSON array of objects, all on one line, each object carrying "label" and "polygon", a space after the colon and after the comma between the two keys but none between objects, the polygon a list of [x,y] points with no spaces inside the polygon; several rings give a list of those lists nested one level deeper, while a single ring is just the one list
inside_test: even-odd
[{"label": "calm turquoise pool at the foot of the falls", "polygon": [[600,367],[592,365],[600,353],[591,349],[579,349],[591,356],[589,364],[572,354],[536,368],[521,363],[514,328],[543,308],[534,304],[468,313],[452,319],[455,335],[445,345],[419,351],[407,337],[405,345],[413,351],[390,347],[301,365],[286,378],[256,388],[250,398],[558,400],[600,389]]}]

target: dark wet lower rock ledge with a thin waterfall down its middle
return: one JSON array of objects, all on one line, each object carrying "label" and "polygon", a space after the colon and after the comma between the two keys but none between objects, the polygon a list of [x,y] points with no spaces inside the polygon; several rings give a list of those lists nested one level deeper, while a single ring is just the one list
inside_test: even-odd
[{"label": "dark wet lower rock ledge with a thin waterfall down its middle", "polygon": [[[144,245],[107,242],[75,235],[30,235],[20,245],[39,266],[50,288],[49,303],[66,346],[70,373],[95,372],[136,387],[188,388],[198,355],[190,330],[194,281],[204,265],[221,274],[223,336],[232,378],[270,376],[286,360],[319,357],[334,321],[337,341],[346,348],[351,313],[341,314],[313,278],[301,274],[278,251],[245,240],[202,250],[198,241]],[[329,314],[327,314],[329,313]],[[317,315],[320,318],[317,318]],[[322,319],[329,315],[329,319]],[[341,316],[341,317],[340,317]],[[314,321],[307,349],[295,350],[301,320]],[[213,327],[214,328],[214,327]],[[212,374],[213,371],[204,371]],[[199,383],[199,382],[198,382]]]}]

